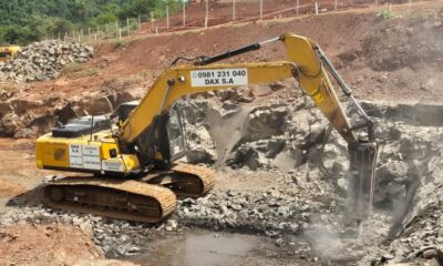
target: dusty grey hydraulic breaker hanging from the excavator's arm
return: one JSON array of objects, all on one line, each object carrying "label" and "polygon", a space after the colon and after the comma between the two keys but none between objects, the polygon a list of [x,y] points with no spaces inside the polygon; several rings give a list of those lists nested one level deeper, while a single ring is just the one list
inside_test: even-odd
[{"label": "dusty grey hydraulic breaker hanging from the excavator's arm", "polygon": [[350,185],[348,201],[350,214],[358,221],[367,219],[372,213],[378,144],[356,142],[348,145]]}]

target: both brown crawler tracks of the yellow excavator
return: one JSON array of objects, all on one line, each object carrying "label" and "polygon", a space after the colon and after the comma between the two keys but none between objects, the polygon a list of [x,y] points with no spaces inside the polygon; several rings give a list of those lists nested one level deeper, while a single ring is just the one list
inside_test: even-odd
[{"label": "both brown crawler tracks of the yellow excavator", "polygon": [[72,176],[50,182],[43,200],[54,208],[157,223],[176,208],[176,196],[199,197],[213,190],[209,168],[175,164],[137,180]]}]

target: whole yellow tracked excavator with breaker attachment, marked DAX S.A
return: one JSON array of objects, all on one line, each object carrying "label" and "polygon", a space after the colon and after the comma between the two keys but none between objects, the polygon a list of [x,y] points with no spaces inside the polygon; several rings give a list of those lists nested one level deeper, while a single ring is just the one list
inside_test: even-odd
[{"label": "whole yellow tracked excavator with breaker attachment, marked DAX S.A", "polygon": [[[274,42],[285,45],[287,60],[216,63]],[[327,71],[357,106],[362,122],[350,125]],[[162,221],[176,208],[176,196],[205,195],[215,181],[209,168],[185,163],[186,140],[174,103],[189,94],[288,78],[298,81],[349,143],[353,213],[363,219],[372,205],[378,150],[373,122],[320,47],[290,33],[215,57],[177,58],[140,102],[122,104],[110,117],[74,119],[39,137],[39,168],[85,173],[51,180],[43,190],[44,202],[55,208],[127,221]],[[363,130],[364,140],[359,140],[356,131]]]}]

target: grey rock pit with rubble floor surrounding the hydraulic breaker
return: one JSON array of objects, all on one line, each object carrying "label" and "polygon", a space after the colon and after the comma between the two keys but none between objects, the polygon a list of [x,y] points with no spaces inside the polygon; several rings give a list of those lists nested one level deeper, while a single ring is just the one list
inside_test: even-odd
[{"label": "grey rock pit with rubble floor surrounding the hydraulic breaker", "polygon": [[[171,254],[194,254],[187,250],[189,239],[207,243],[203,253],[210,257],[214,235],[223,235],[220,245],[235,246],[237,233],[258,235],[251,242],[261,247],[253,245],[241,254],[228,250],[214,259],[243,263],[250,254],[267,254],[308,265],[368,265],[419,259],[441,249],[442,207],[435,193],[443,186],[443,129],[435,113],[440,105],[363,103],[377,122],[380,155],[374,213],[363,222],[360,237],[347,213],[346,142],[332,133],[323,155],[329,171],[319,171],[328,123],[309,99],[245,106],[199,96],[179,105],[189,158],[217,173],[217,187],[207,196],[179,201],[173,217],[158,225],[53,211],[19,196],[10,201],[12,208],[1,216],[1,224],[74,225],[87,232],[107,257],[142,265],[150,265],[151,255],[166,259]],[[195,227],[204,228],[202,242],[193,238],[198,235]],[[167,244],[169,237],[177,242]],[[164,254],[157,245],[169,250]],[[178,258],[172,264],[174,259]]]}]

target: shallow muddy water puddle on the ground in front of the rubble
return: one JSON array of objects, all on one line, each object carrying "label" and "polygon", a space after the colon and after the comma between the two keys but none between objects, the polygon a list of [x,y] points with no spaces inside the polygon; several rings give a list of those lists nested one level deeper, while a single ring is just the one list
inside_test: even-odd
[{"label": "shallow muddy water puddle on the ground in front of the rubble", "polygon": [[125,259],[144,266],[237,265],[254,250],[269,245],[267,242],[255,235],[186,232],[183,236],[148,243],[150,247],[141,255]]}]

